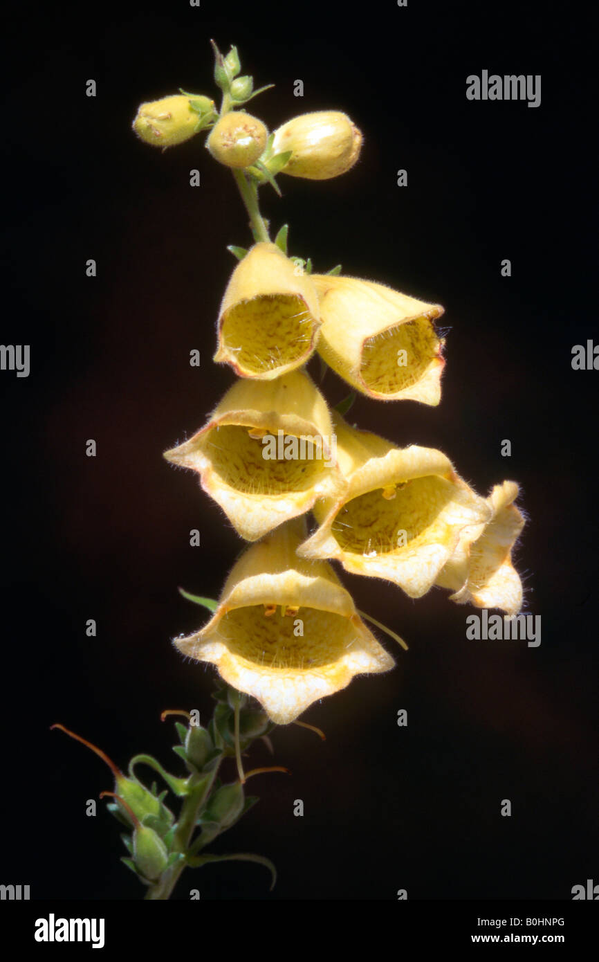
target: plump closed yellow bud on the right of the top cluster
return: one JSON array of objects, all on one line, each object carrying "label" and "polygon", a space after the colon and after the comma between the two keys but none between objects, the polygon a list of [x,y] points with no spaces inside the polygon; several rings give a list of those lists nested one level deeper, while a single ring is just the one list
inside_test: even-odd
[{"label": "plump closed yellow bud on the right of the top cluster", "polygon": [[356,163],[362,133],[346,114],[317,111],[300,114],[275,131],[273,154],[291,151],[282,173],[308,180],[329,180]]}]

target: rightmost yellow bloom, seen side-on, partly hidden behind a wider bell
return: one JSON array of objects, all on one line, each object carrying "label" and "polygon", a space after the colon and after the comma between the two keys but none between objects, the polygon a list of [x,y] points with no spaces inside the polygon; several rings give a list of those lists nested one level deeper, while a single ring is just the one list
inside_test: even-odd
[{"label": "rightmost yellow bloom, seen side-on, partly hidden behind a wider bell", "polygon": [[520,611],[522,582],[512,565],[512,547],[525,520],[513,504],[517,496],[515,482],[495,485],[487,497],[490,519],[469,532],[466,539],[460,539],[439,572],[437,585],[455,592],[452,601],[477,608],[501,608],[511,616]]}]

